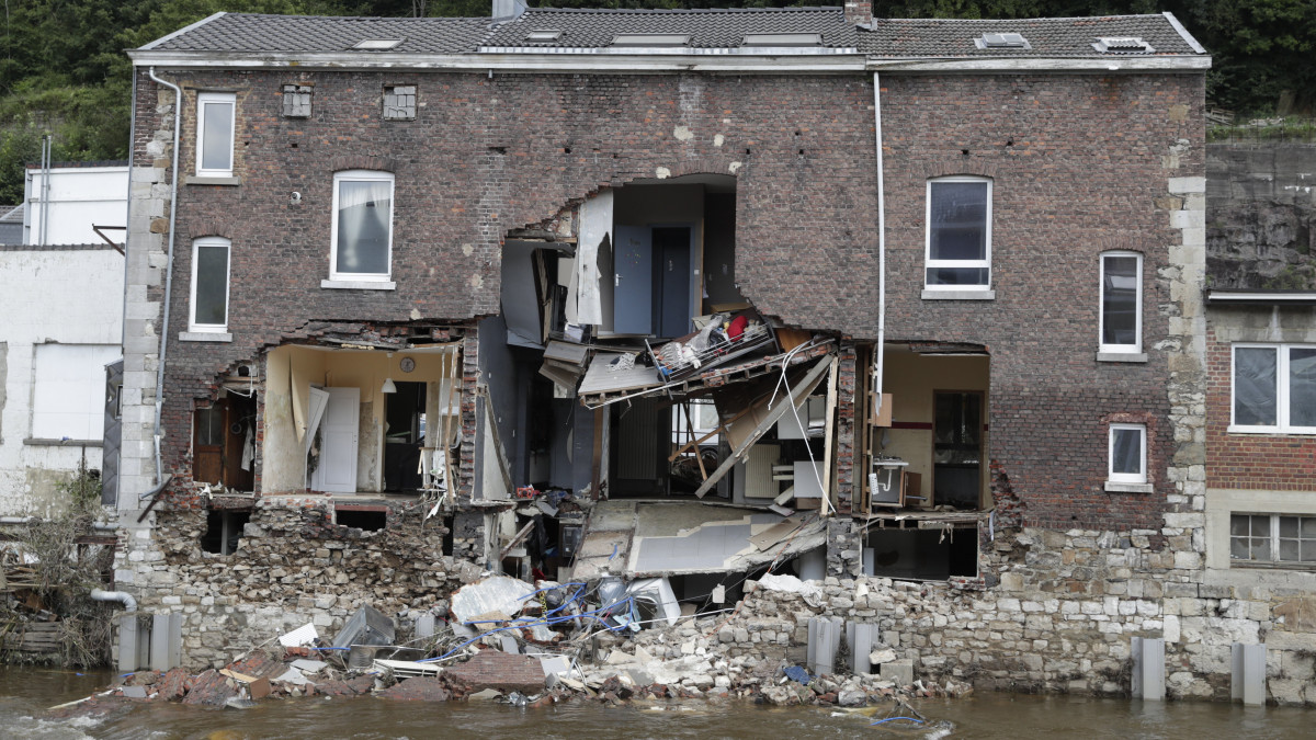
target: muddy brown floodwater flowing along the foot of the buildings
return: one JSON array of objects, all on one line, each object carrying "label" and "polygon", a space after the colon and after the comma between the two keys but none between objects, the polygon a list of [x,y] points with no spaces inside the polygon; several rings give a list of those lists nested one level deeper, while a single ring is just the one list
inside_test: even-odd
[{"label": "muddy brown floodwater flowing along the foot of the buildings", "polygon": [[896,720],[873,727],[884,707],[861,712],[813,707],[769,708],[745,703],[558,704],[525,710],[488,703],[388,702],[372,698],[266,702],[249,710],[139,704],[101,718],[43,719],[46,707],[86,697],[107,674],[0,668],[0,737],[196,739],[247,737],[1044,737],[1191,740],[1316,737],[1316,710],[1244,708],[1228,704],[1142,703],[1120,699],[980,694],[917,704],[928,724]]}]

